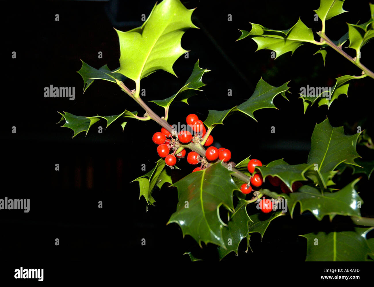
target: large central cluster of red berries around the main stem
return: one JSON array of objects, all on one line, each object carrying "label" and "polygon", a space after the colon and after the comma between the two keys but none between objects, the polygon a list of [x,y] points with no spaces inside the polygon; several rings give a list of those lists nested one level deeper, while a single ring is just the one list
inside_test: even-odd
[{"label": "large central cluster of red berries around the main stem", "polygon": [[[184,158],[186,156],[186,149],[183,149],[177,155],[175,152],[182,144],[188,144],[189,142],[199,143],[202,140],[202,137],[206,134],[206,128],[202,121],[199,120],[197,115],[190,114],[186,118],[186,123],[193,130],[194,135],[191,134],[188,130],[181,130],[178,133],[178,139],[174,139],[168,130],[165,128],[161,129],[161,132],[157,132],[153,135],[152,141],[159,145],[157,147],[157,153],[160,157],[165,157],[165,163],[168,166],[174,166],[177,163],[178,158]],[[167,139],[171,138],[171,139]],[[206,149],[205,157],[200,157],[197,152],[191,151],[187,155],[187,162],[189,164],[198,164],[201,163],[200,167],[196,167],[193,172],[204,169],[208,165],[208,161],[215,161],[219,158],[221,161],[227,162],[231,158],[231,152],[229,149],[219,148],[217,149],[214,146],[210,146],[213,143],[213,137],[211,135],[205,141],[204,146],[209,146]],[[174,152],[169,154],[170,149]]]}]

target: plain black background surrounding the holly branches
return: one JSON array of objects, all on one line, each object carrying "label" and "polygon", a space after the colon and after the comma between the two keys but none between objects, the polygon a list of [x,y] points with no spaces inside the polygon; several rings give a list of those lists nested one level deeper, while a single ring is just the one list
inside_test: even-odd
[{"label": "plain black background surrounding the holly branches", "polygon": [[[251,29],[248,21],[285,30],[301,16],[307,27],[319,31],[321,22],[313,21],[313,9],[318,9],[319,1],[183,3],[188,9],[197,7],[192,21],[200,28],[188,30],[182,38],[182,47],[191,50],[189,58],[181,56],[175,62],[178,78],[164,71],[144,78],[143,99],[163,99],[174,94],[183,86],[197,59],[200,67],[212,71],[205,74],[203,82],[207,86],[189,100],[190,105],[172,105],[169,123],[184,123],[190,113],[205,120],[208,109],[223,110],[244,102],[262,76],[273,86],[291,80],[288,86],[292,94],[287,94],[290,101],[277,96],[274,103],[279,110],[255,112],[258,122],[244,115],[232,115],[223,126],[215,128],[212,133],[215,145],[230,148],[233,161],[251,155],[263,163],[278,158],[289,164],[304,163],[315,124],[326,115],[332,126],[344,126],[346,134],[354,134],[356,127],[361,126],[372,135],[373,90],[368,87],[373,79],[369,77],[352,81],[349,97],[340,96],[329,110],[313,106],[303,115],[302,101],[297,99],[300,87],[332,86],[335,77],[361,74],[332,49],[328,50],[324,67],[321,55],[313,56],[318,47],[312,44],[301,46],[292,57],[287,53],[274,60],[269,50],[255,52],[257,45],[250,38],[235,42],[240,36],[238,29]],[[153,1],[1,2],[0,198],[30,199],[30,213],[0,211],[4,259],[1,262],[7,268],[1,275],[3,278],[12,278],[14,269],[20,266],[45,268],[45,278],[49,280],[63,277],[64,272],[79,274],[77,270],[82,266],[97,268],[92,270],[116,266],[121,270],[130,264],[147,273],[155,266],[154,262],[161,262],[165,269],[173,270],[176,264],[196,264],[190,263],[187,255],[183,256],[185,251],[203,257],[205,262],[218,261],[215,246],[209,244],[201,250],[191,237],[182,238],[177,224],[166,226],[178,201],[176,189],[164,186],[154,191],[156,204],[146,212],[144,198],[138,198],[138,183],[130,183],[145,173],[141,164],[146,165],[148,172],[158,160],[151,136],[160,128],[154,121],[130,120],[124,132],[119,123],[113,123],[98,133],[98,126],[105,127],[104,121],[100,121],[87,136],[80,133],[74,139],[71,139],[72,130],[56,124],[61,118],[57,111],[84,116],[114,115],[125,109],[144,112],[117,85],[107,81],[96,80],[83,94],[83,81],[76,71],[81,67],[79,59],[95,68],[104,64],[111,70],[117,68],[120,52],[113,27],[126,31],[140,26],[141,15],[148,16],[153,5]],[[367,21],[370,17],[368,1],[347,1],[344,9],[350,12],[327,22],[327,34],[333,40],[346,33],[345,22]],[[59,14],[58,22],[55,14]],[[228,14],[232,14],[232,21],[227,21]],[[315,39],[318,40],[316,34]],[[345,50],[354,56],[353,49]],[[16,59],[11,57],[13,51]],[[103,53],[102,59],[98,59],[99,51]],[[371,70],[372,52],[373,43],[362,48],[361,62]],[[75,87],[75,100],[44,98],[43,89],[51,84]],[[125,84],[135,88],[131,80]],[[232,89],[231,97],[227,96],[228,89]],[[150,107],[162,115],[161,108],[152,103]],[[16,134],[11,132],[13,126]],[[272,126],[275,133],[270,133]],[[373,158],[366,149],[358,147],[358,152],[362,157]],[[55,171],[56,163],[59,171]],[[181,170],[173,171],[174,180],[193,169],[183,160],[178,167]],[[342,176],[342,186],[352,179],[349,172]],[[373,188],[365,177],[358,190],[364,191],[360,194],[364,202],[373,200]],[[98,201],[103,202],[102,209],[98,209]],[[370,204],[363,206],[362,215],[373,216]],[[298,234],[329,225],[328,220],[319,223],[308,214],[295,216],[294,220],[281,217],[269,226],[262,243],[259,234],[252,235],[254,253],[244,253],[242,242],[239,256],[229,254],[222,264],[302,262],[306,240]],[[55,246],[55,238],[59,238],[59,246]],[[142,238],[146,239],[146,246],[141,246]],[[61,269],[56,271],[55,266]],[[91,277],[100,275],[91,274]]]}]

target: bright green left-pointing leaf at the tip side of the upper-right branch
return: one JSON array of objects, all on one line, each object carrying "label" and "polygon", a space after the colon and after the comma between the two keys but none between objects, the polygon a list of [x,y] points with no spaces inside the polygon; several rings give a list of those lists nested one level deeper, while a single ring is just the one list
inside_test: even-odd
[{"label": "bright green left-pointing leaf at the tip side of the upper-right branch", "polygon": [[253,23],[251,25],[252,29],[249,32],[240,30],[242,35],[238,40],[250,36],[257,43],[256,51],[273,50],[276,53],[275,59],[287,52],[292,52],[292,55],[304,43],[320,44],[314,40],[312,29],[306,27],[300,18],[288,30],[272,30]]}]

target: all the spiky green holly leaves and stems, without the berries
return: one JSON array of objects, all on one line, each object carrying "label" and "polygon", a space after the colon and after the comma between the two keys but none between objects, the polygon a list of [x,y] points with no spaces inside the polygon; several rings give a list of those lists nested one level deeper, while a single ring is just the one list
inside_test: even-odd
[{"label": "all the spiky green holly leaves and stems, without the berries", "polygon": [[[343,9],[344,1],[321,0],[319,9],[315,10],[322,22],[321,31],[317,34],[320,40],[314,38],[314,33],[303,24],[301,19],[288,30],[272,30],[260,24],[252,24],[248,32],[241,30],[242,35],[238,40],[251,37],[260,49],[270,49],[279,57],[287,52],[294,52],[305,43],[319,46],[316,53],[320,53],[325,63],[327,48],[331,47],[342,56],[347,58],[358,68],[362,74],[358,76],[344,75],[336,78],[335,86],[332,87],[332,96],[328,100],[322,97],[305,98],[304,112],[310,104],[318,102],[318,105],[330,105],[341,94],[347,95],[349,82],[353,79],[364,77],[374,78],[373,72],[368,70],[360,62],[360,49],[374,38],[374,5],[370,4],[371,18],[364,24],[347,24],[347,33],[338,41],[330,40],[326,34],[326,21],[334,16],[346,12]],[[159,117],[140,98],[141,79],[147,77],[157,70],[164,70],[175,75],[173,65],[186,50],[181,47],[181,37],[189,28],[197,28],[191,22],[191,14],[194,9],[188,10],[179,0],[163,0],[153,7],[148,19],[140,27],[130,31],[116,30],[120,44],[120,66],[110,70],[107,65],[99,69],[93,68],[82,61],[82,68],[78,73],[84,81],[85,92],[95,80],[106,80],[116,83],[129,97],[134,99],[145,110],[144,116],[139,116],[137,111],[123,111],[118,115],[83,117],[61,113],[60,122],[64,127],[74,131],[74,136],[86,132],[99,120],[106,120],[107,126],[114,121],[118,122],[122,129],[130,118],[147,121],[154,120],[164,129],[168,130],[175,140],[177,133],[168,123],[168,114],[174,101],[188,103],[191,96],[197,95],[200,88],[205,86],[202,78],[208,69],[200,68],[199,61],[193,67],[191,76],[186,83],[174,95],[162,100],[149,101],[163,107],[165,115]],[[349,41],[349,48],[354,49],[356,57],[350,57],[343,51],[342,45]],[[128,78],[134,81],[135,89],[130,90],[123,84]],[[209,110],[208,116],[203,122],[207,127],[205,135],[199,142],[188,144],[180,143],[176,148],[176,154],[183,148],[197,152],[201,157],[205,156],[204,144],[212,130],[226,117],[232,114],[243,113],[255,119],[254,112],[259,109],[276,108],[273,99],[277,95],[286,97],[288,83],[275,87],[266,83],[262,78],[248,100],[240,105],[224,111]],[[152,170],[135,179],[139,183],[140,198],[144,197],[147,205],[153,205],[155,200],[152,193],[161,188],[164,183],[169,183],[178,190],[178,204],[174,213],[171,214],[169,223],[177,223],[183,236],[188,234],[202,246],[212,243],[217,245],[220,259],[230,252],[238,253],[239,244],[246,239],[247,251],[251,234],[260,233],[263,237],[270,222],[279,216],[294,216],[295,206],[300,204],[300,212],[310,212],[317,220],[328,216],[332,220],[336,215],[349,216],[361,226],[350,231],[334,231],[326,233],[309,233],[301,235],[307,238],[306,260],[372,260],[374,249],[372,239],[367,240],[366,235],[372,229],[373,221],[365,219],[362,222],[360,213],[363,200],[355,190],[355,184],[359,178],[353,180],[344,188],[338,190],[335,186],[335,176],[339,170],[347,166],[353,167],[355,173],[371,175],[373,161],[367,163],[359,161],[360,156],[356,152],[356,144],[361,133],[346,135],[343,127],[332,127],[326,118],[316,124],[311,136],[311,149],[308,158],[299,164],[288,164],[283,159],[274,160],[263,166],[257,166],[254,173],[260,173],[268,182],[269,176],[278,177],[283,184],[290,189],[290,193],[281,193],[279,188],[269,190],[259,188],[254,196],[246,200],[245,194],[240,193],[240,186],[248,183],[251,173],[247,165],[250,158],[244,158],[240,163],[224,163],[215,160],[207,164],[203,170],[190,173],[177,182],[172,182],[171,169],[162,158],[156,162]],[[371,141],[371,139],[370,139]],[[362,163],[362,164],[361,164]],[[293,183],[303,182],[298,190],[292,190]],[[288,212],[273,210],[264,215],[257,209],[248,209],[251,204],[257,204],[261,197],[275,199],[275,203],[285,203]],[[221,218],[220,209],[227,210],[228,221]],[[249,211],[250,210],[250,211]],[[172,211],[171,211],[172,212]],[[315,247],[318,240],[319,248]],[[186,252],[191,260],[199,260],[191,252]]]}]

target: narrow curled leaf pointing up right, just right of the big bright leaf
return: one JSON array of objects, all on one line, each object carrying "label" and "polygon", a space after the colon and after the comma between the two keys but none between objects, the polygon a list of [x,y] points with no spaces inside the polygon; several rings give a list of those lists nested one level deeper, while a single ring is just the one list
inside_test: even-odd
[{"label": "narrow curled leaf pointing up right, just right of the big bright leaf", "polygon": [[209,72],[209,71],[210,70],[208,69],[200,68],[199,60],[197,60],[197,62],[194,65],[192,74],[190,75],[190,77],[188,78],[184,86],[177,93],[163,100],[153,100],[153,101],[148,101],[148,102],[154,102],[160,107],[165,108],[165,110],[169,108],[169,106],[171,105],[172,101],[174,101],[174,99],[177,99],[177,101],[185,102],[186,104],[188,104],[187,102],[188,98],[196,95],[196,93],[194,93],[191,90],[201,91],[200,88],[203,86],[206,86],[206,84],[202,82],[202,77],[206,72]]}]

